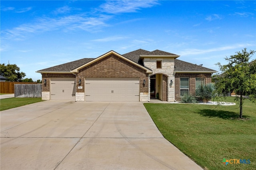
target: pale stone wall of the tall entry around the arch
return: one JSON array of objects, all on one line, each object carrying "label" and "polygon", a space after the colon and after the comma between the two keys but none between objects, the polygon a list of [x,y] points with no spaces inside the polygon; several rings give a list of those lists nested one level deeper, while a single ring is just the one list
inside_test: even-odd
[{"label": "pale stone wall of the tall entry around the arch", "polygon": [[[162,68],[156,68],[156,61],[162,61]],[[174,85],[172,85],[172,87],[169,86],[171,80],[173,81],[173,84],[175,84],[174,58],[145,57],[143,63],[145,67],[148,67],[153,71],[152,74],[163,74],[163,84],[166,82],[166,90],[164,91],[163,89],[163,97],[165,95],[164,93],[166,93],[166,100],[169,102],[174,101]],[[166,78],[164,78],[164,75]],[[148,89],[148,91],[150,91],[150,89]]]}]

